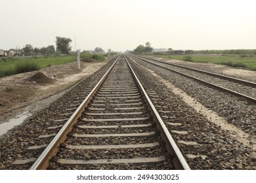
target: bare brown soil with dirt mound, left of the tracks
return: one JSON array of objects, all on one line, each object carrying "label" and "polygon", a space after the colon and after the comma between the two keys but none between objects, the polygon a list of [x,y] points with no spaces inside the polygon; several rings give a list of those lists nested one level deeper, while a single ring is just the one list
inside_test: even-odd
[{"label": "bare brown soil with dirt mound, left of the tracks", "polygon": [[79,70],[73,62],[0,78],[0,124],[23,112],[42,110],[106,63],[81,62]]}]

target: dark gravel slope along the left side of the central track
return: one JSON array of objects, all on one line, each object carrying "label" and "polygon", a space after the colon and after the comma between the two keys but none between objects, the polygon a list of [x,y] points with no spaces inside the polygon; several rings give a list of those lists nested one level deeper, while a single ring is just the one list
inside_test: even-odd
[{"label": "dark gravel slope along the left side of the central track", "polygon": [[[63,125],[66,121],[55,122],[55,120],[69,118],[71,114],[70,112],[66,111],[66,109],[71,108],[70,105],[74,105],[72,101],[81,99],[80,94],[86,93],[84,88],[93,88],[96,82],[100,80],[100,78],[106,73],[110,65],[113,63],[114,59],[109,61],[93,75],[85,78],[85,80],[77,84],[77,86],[75,86],[69,92],[62,95],[62,97],[56,101],[53,101],[49,107],[41,110],[41,112],[37,114],[34,114],[28,120],[26,120],[26,122],[14,127],[11,131],[9,131],[9,133],[1,136],[0,169],[28,169],[28,166],[13,166],[12,163],[16,159],[37,158],[41,152],[43,152],[43,149],[28,152],[27,148],[37,144],[48,144],[51,141],[51,138],[39,139],[38,137],[40,135],[47,134],[48,127],[60,124]],[[80,91],[77,92],[77,90]],[[58,130],[56,130],[56,133],[57,131]],[[51,129],[50,133],[52,132],[53,130]]]}]

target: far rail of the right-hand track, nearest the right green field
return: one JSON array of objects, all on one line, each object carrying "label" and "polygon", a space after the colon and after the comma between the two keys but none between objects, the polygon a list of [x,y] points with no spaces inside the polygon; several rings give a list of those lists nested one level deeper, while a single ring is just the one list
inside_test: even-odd
[{"label": "far rail of the right-hand track, nearest the right green field", "polygon": [[[135,58],[146,58],[146,57],[138,57],[138,56],[134,56]],[[211,73],[211,72],[208,72],[208,71],[203,71],[203,70],[200,70],[200,69],[194,69],[194,68],[191,68],[191,67],[186,67],[186,66],[183,66],[183,65],[178,65],[178,64],[175,64],[175,63],[167,63],[166,61],[160,61],[158,59],[153,59],[153,58],[146,58],[146,59],[151,59],[153,61],[158,61],[158,62],[161,62],[161,63],[165,63],[165,64],[168,64],[168,65],[173,65],[173,66],[176,66],[176,67],[181,67],[181,68],[184,68],[184,69],[189,69],[191,71],[196,71],[198,73],[203,73],[203,74],[206,74],[206,75],[211,75],[211,76],[216,76],[218,78],[223,78],[225,80],[229,80],[229,81],[232,81],[232,82],[236,82],[236,83],[239,83],[239,84],[244,84],[246,86],[251,86],[253,88],[256,88],[256,83],[255,82],[249,82],[247,80],[242,80],[242,79],[238,79],[238,78],[232,78],[230,76],[224,76],[224,75],[219,75],[217,73]]]}]

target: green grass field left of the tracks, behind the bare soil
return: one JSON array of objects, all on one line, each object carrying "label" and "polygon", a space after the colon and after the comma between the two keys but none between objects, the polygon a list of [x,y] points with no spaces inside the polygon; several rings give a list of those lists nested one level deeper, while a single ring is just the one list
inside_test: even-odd
[{"label": "green grass field left of the tracks, behind the bare soil", "polygon": [[38,71],[52,65],[62,65],[75,61],[75,56],[58,56],[42,58],[5,58],[0,59],[0,77]]}]

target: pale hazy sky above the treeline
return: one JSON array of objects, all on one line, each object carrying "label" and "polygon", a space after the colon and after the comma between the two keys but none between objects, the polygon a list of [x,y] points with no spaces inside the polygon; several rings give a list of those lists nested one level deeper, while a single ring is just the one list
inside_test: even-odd
[{"label": "pale hazy sky above the treeline", "polygon": [[0,48],[54,45],[73,50],[255,49],[256,1],[0,0]]}]

